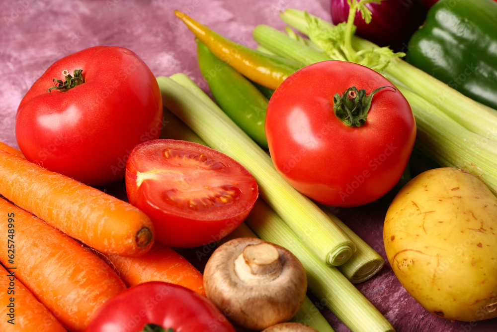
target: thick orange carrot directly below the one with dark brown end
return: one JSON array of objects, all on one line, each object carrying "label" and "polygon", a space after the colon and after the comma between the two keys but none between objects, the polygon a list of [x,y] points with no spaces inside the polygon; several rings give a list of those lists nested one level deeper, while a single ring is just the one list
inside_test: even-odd
[{"label": "thick orange carrot directly below the one with dark brown end", "polygon": [[126,289],[93,251],[4,199],[0,234],[0,262],[72,332],[84,331],[100,306]]}]

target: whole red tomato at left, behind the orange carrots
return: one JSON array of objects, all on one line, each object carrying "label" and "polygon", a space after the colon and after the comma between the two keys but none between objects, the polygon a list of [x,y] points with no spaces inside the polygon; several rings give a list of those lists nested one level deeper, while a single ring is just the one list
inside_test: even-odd
[{"label": "whole red tomato at left, behind the orange carrots", "polygon": [[[65,69],[82,69],[84,83],[47,92]],[[129,153],[158,138],[161,126],[161,93],[143,60],[126,48],[95,46],[58,60],[33,84],[15,134],[28,160],[98,186],[124,178]]]}]

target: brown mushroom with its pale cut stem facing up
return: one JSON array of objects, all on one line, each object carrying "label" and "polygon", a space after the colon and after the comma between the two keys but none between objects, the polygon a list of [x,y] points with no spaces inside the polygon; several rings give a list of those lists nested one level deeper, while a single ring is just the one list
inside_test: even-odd
[{"label": "brown mushroom with its pale cut stem facing up", "polygon": [[287,249],[244,237],[212,253],[204,269],[204,288],[235,325],[260,331],[295,316],[306,296],[307,277]]}]

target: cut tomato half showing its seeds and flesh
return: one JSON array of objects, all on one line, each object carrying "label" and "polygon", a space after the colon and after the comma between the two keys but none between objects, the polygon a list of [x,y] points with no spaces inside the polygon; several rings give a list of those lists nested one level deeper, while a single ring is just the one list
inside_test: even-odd
[{"label": "cut tomato half showing its seeds and flesh", "polygon": [[157,241],[195,247],[238,227],[255,204],[258,187],[247,169],[221,152],[156,139],[130,154],[126,193],[129,203],[154,222]]}]

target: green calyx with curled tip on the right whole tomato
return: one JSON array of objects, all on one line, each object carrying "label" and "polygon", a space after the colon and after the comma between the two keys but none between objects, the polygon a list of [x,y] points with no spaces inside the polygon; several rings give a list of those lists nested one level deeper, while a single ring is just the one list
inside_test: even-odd
[{"label": "green calyx with curled tip on the right whole tomato", "polygon": [[373,95],[384,88],[392,88],[397,92],[394,87],[386,86],[372,91],[369,95],[366,95],[366,90],[357,90],[356,87],[348,88],[341,96],[336,93],[333,96],[333,113],[345,125],[360,127],[366,123]]}]

